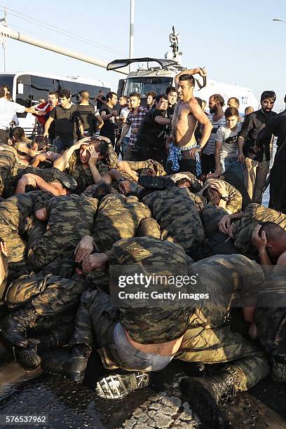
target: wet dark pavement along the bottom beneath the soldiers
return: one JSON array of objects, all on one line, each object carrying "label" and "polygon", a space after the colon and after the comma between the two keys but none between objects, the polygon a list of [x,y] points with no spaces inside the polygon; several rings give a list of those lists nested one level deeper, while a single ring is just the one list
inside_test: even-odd
[{"label": "wet dark pavement along the bottom beneath the soldiers", "polygon": [[[10,362],[0,367],[0,414],[48,414],[48,424],[41,428],[50,429],[203,429],[205,426],[179,392],[179,381],[187,375],[187,369],[185,362],[172,362],[168,369],[154,374],[149,388],[109,402],[93,391],[102,373],[97,360],[91,361],[84,384],[41,374],[41,370],[25,372]],[[250,392],[240,393],[233,402],[224,404],[222,412],[229,427],[286,428],[286,386],[268,379],[261,381]]]}]

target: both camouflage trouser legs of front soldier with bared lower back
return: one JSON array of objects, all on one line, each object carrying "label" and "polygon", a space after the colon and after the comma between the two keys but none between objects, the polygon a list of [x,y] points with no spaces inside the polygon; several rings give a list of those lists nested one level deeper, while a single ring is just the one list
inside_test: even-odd
[{"label": "both camouflage trouser legs of front soldier with bared lower back", "polygon": [[[107,369],[129,369],[116,356],[113,331],[118,322],[118,310],[111,305],[110,296],[100,290],[87,290],[81,295],[76,314],[74,334],[69,346],[84,344],[94,347]],[[187,362],[214,364],[234,361],[226,366],[236,380],[238,390],[247,390],[269,373],[264,353],[228,326],[188,329],[176,356]]]}]

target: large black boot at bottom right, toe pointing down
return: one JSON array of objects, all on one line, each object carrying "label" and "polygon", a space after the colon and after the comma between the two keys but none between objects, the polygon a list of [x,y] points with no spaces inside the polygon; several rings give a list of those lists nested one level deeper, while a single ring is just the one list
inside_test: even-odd
[{"label": "large black boot at bottom right, toe pointing down", "polygon": [[212,377],[188,377],[182,379],[180,388],[188,399],[191,409],[198,414],[207,428],[223,428],[224,419],[219,411],[218,403],[229,399],[236,393],[233,375],[222,371]]}]

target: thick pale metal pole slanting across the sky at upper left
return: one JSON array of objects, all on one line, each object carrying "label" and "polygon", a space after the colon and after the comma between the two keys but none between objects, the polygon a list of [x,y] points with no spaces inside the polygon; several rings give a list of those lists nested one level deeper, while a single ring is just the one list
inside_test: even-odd
[{"label": "thick pale metal pole slanting across the sky at upper left", "polygon": [[[107,68],[107,62],[97,60],[97,58],[88,57],[88,55],[82,55],[81,53],[74,52],[73,50],[60,48],[60,46],[51,45],[46,41],[34,39],[34,37],[27,36],[26,34],[22,34],[20,32],[15,32],[10,27],[5,27],[4,25],[0,26],[0,34],[11,37],[11,39],[19,40],[24,43],[29,43],[29,45],[38,46],[39,48],[51,50],[52,52],[60,53],[67,57],[75,58],[76,60],[88,62],[89,64],[94,64],[94,65],[97,65],[98,67],[103,67],[104,69]],[[116,71],[121,74],[128,74],[122,70],[116,70]]]}]

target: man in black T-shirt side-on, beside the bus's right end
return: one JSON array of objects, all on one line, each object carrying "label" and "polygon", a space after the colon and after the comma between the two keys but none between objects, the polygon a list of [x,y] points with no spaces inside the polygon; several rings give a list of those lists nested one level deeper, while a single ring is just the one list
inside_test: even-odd
[{"label": "man in black T-shirt side-on, beside the bus's right end", "polygon": [[100,135],[107,137],[113,147],[115,145],[115,130],[117,128],[118,111],[114,109],[117,104],[117,94],[107,93],[107,102],[100,107],[100,116],[103,119],[104,125],[100,130]]}]

